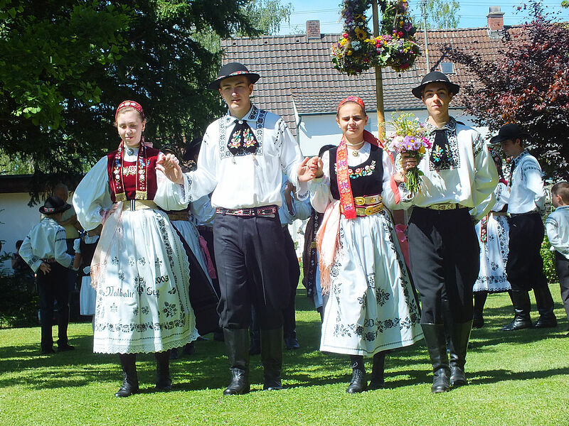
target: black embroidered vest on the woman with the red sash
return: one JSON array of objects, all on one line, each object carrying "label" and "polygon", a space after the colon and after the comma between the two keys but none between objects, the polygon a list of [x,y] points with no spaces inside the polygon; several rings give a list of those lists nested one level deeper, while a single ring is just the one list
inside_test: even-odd
[{"label": "black embroidered vest on the woman with the red sash", "polygon": [[[330,192],[334,200],[340,199],[336,175],[336,151],[330,153]],[[381,194],[383,191],[383,149],[371,145],[369,158],[355,167],[349,166],[351,192],[354,197]]]}]

